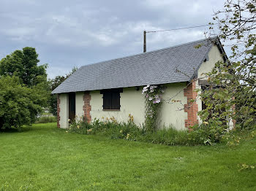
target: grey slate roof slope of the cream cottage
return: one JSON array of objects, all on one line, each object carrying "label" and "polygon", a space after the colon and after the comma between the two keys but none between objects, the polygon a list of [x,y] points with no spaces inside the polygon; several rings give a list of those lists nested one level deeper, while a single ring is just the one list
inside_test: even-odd
[{"label": "grey slate roof slope of the cream cottage", "polygon": [[[216,40],[218,41],[217,38]],[[203,46],[195,48],[198,44]],[[52,93],[188,82],[201,63],[208,58],[212,46],[209,39],[201,39],[82,66]],[[177,69],[183,74],[177,72]]]}]

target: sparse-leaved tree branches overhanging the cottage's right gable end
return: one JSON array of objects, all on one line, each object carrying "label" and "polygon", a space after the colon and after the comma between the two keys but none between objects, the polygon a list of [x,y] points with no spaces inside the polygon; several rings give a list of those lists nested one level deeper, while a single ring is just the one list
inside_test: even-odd
[{"label": "sparse-leaved tree branches overhanging the cottage's right gable end", "polygon": [[201,93],[207,108],[200,116],[212,126],[227,128],[230,120],[236,120],[236,127],[255,127],[256,1],[227,0],[213,19],[219,30],[210,27],[210,36],[218,35],[231,55],[207,74],[208,87]]}]

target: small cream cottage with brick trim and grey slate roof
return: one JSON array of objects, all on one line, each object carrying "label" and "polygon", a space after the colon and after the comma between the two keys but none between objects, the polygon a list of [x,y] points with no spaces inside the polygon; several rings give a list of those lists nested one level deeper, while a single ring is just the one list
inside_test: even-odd
[{"label": "small cream cottage with brick trim and grey slate roof", "polygon": [[159,126],[189,128],[201,122],[197,112],[202,101],[194,90],[201,87],[203,73],[227,60],[224,55],[216,37],[82,66],[53,90],[58,94],[58,127],[68,128],[75,116],[127,122],[129,114],[143,125],[143,87],[165,85]]}]

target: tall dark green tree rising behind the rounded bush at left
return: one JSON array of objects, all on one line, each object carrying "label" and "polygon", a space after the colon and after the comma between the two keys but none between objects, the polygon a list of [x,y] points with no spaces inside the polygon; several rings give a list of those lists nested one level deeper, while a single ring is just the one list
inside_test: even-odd
[{"label": "tall dark green tree rising behind the rounded bush at left", "polygon": [[15,50],[0,61],[0,76],[18,76],[29,87],[47,81],[47,65],[38,66],[38,54],[33,47]]}]

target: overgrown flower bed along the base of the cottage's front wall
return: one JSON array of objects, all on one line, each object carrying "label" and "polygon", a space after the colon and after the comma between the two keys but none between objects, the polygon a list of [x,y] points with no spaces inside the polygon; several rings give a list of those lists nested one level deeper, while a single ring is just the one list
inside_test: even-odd
[{"label": "overgrown flower bed along the base of the cottage's front wall", "polygon": [[110,119],[94,120],[88,123],[81,118],[70,123],[69,132],[80,134],[97,134],[109,137],[110,139],[126,139],[130,141],[145,141],[154,144],[165,145],[212,145],[216,143],[233,143],[237,136],[233,136],[233,131],[227,131],[221,126],[195,125],[193,130],[181,131],[175,128],[159,129],[149,131],[140,128],[132,122],[129,117],[128,122],[117,122],[114,117]]}]

